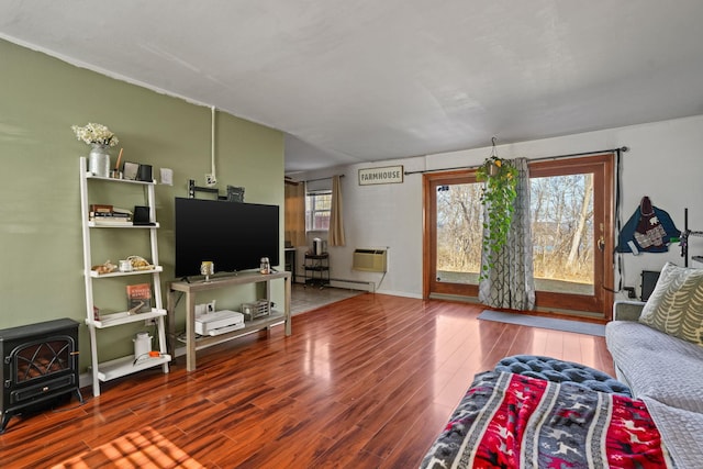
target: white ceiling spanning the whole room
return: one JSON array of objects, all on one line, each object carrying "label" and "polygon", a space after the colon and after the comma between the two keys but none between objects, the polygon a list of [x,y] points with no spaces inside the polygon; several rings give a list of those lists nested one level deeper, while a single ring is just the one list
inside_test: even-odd
[{"label": "white ceiling spanning the whole room", "polygon": [[702,19],[700,0],[5,0],[0,37],[281,130],[293,174],[701,114]]}]

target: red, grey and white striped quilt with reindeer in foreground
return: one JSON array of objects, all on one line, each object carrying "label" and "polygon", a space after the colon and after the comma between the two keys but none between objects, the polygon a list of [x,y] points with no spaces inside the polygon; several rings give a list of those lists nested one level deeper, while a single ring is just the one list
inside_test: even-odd
[{"label": "red, grey and white striped quilt with reindeer in foreground", "polygon": [[641,401],[507,372],[477,375],[422,468],[673,468]]}]

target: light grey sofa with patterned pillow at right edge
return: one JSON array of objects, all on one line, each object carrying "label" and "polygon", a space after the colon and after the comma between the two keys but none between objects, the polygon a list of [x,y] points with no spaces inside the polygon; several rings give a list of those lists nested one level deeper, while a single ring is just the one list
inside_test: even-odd
[{"label": "light grey sofa with patterned pillow at right edge", "polygon": [[703,269],[667,264],[647,302],[616,301],[605,326],[617,378],[645,402],[679,468],[703,467],[702,303]]}]

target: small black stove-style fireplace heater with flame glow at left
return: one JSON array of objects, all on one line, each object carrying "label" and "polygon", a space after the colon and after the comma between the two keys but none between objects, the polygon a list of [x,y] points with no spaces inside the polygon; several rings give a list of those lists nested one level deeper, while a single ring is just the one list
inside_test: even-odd
[{"label": "small black stove-style fireplace heater with flame glow at left", "polygon": [[0,433],[13,415],[63,394],[75,392],[83,402],[76,321],[63,319],[0,330]]}]

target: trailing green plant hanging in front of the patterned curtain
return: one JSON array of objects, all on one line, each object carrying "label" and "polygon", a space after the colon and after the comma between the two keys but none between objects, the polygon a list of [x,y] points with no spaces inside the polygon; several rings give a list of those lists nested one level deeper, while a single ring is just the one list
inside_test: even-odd
[{"label": "trailing green plant hanging in front of the patterned curtain", "polygon": [[484,182],[481,203],[487,214],[483,219],[483,250],[488,261],[481,267],[480,280],[488,277],[488,269],[495,265],[498,254],[507,241],[513,201],[517,196],[517,168],[493,154],[476,170],[476,180]]}]

